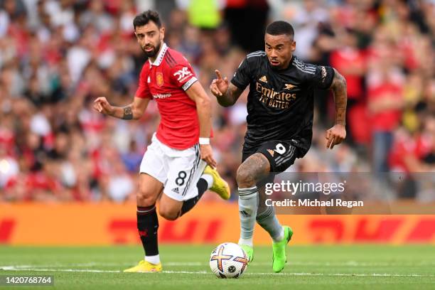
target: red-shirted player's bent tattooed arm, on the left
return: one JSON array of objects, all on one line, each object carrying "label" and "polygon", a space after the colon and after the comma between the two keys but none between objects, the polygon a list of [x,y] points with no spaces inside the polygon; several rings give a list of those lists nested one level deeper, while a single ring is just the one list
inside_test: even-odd
[{"label": "red-shirted player's bent tattooed arm, on the left", "polygon": [[118,119],[140,119],[149,103],[149,98],[134,97],[131,104],[125,107],[114,107],[106,97],[97,97],[94,101],[94,109],[102,114],[107,114]]}]

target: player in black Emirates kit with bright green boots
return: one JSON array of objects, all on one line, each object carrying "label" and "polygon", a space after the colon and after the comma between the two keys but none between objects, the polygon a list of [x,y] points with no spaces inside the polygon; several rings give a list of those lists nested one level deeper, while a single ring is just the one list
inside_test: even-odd
[{"label": "player in black Emirates kit with bright green boots", "polygon": [[[311,65],[296,58],[294,29],[286,21],[267,26],[265,51],[247,55],[232,77],[213,80],[210,90],[224,107],[235,104],[249,85],[247,133],[242,164],[237,169],[241,233],[239,244],[253,259],[252,235],[255,220],[269,232],[273,243],[274,272],[286,262],[286,244],[293,232],[281,226],[273,207],[264,203],[264,178],[289,168],[311,146],[313,134],[313,92],[315,88],[332,90],[335,100],[335,124],[326,131],[327,146],[340,144],[346,136],[346,81],[334,68]],[[259,203],[257,202],[259,198]]]}]

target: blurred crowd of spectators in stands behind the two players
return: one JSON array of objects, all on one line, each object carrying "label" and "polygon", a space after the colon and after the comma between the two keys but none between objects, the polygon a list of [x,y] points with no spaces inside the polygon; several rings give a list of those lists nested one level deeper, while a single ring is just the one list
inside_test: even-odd
[{"label": "blurred crowd of spectators in stands behind the two players", "polygon": [[[131,102],[146,60],[132,20],[146,9],[207,90],[216,68],[231,77],[262,49],[277,19],[294,25],[299,58],[346,78],[345,144],[326,149],[335,107],[316,92],[313,145],[290,171],[435,172],[434,0],[0,0],[0,202],[135,200],[156,104],[124,121],[92,102]],[[233,107],[213,101],[214,154],[233,189],[246,102],[247,91]],[[405,196],[419,198],[418,183]]]}]

